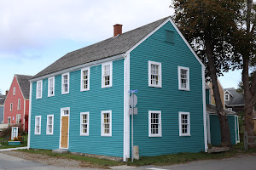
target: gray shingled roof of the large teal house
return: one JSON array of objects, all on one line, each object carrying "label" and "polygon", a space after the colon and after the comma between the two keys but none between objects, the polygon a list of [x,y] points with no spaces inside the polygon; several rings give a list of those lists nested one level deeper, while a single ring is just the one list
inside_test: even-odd
[{"label": "gray shingled roof of the large teal house", "polygon": [[146,26],[127,31],[117,37],[110,37],[102,42],[97,42],[85,48],[68,53],[56,60],[53,64],[40,71],[32,78],[42,77],[56,71],[61,71],[77,65],[83,65],[99,59],[106,59],[119,54],[124,54],[137,44],[143,37],[146,37],[157,26],[160,26],[167,18],[154,21]]}]

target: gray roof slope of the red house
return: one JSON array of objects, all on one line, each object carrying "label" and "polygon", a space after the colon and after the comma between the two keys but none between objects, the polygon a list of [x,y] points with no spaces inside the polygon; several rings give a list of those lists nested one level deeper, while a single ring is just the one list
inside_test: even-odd
[{"label": "gray roof slope of the red house", "polygon": [[29,80],[32,79],[32,76],[15,74],[15,77],[17,79],[17,82],[20,85],[20,90],[21,90],[24,98],[29,99],[29,88],[30,88]]}]

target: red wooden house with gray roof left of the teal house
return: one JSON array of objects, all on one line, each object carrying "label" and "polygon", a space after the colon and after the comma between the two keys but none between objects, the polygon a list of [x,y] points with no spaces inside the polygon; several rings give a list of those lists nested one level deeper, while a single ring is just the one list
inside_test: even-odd
[{"label": "red wooden house with gray roof left of the teal house", "polygon": [[17,75],[9,88],[3,112],[3,123],[10,125],[23,125],[27,131],[29,112],[29,79],[32,76]]}]

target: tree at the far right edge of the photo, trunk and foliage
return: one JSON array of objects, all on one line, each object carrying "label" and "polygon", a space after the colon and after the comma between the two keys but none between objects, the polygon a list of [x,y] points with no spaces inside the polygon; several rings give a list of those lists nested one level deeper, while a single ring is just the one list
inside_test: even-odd
[{"label": "tree at the far right edge of the photo, trunk and foliage", "polygon": [[236,39],[233,42],[239,56],[234,62],[242,68],[242,88],[245,99],[244,125],[249,136],[253,136],[253,106],[256,102],[256,74],[249,69],[255,66],[256,50],[256,5],[253,0],[244,0],[240,18],[236,20]]}]

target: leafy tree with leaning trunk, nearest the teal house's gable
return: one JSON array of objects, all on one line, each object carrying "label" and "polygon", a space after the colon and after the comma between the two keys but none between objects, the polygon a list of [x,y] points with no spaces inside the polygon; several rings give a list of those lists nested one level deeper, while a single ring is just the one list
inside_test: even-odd
[{"label": "leafy tree with leaning trunk, nearest the teal house's gable", "polygon": [[236,20],[242,0],[174,0],[175,20],[196,54],[207,66],[216,102],[222,144],[230,148],[230,127],[221,102],[217,77],[230,70],[230,59],[235,55]]}]

